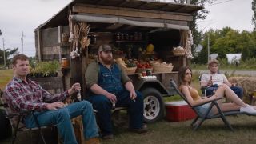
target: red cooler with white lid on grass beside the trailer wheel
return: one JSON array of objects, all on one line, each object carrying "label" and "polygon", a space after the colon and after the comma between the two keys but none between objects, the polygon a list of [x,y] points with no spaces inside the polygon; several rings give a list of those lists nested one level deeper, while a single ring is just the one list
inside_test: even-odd
[{"label": "red cooler with white lid on grass beside the trailer wheel", "polygon": [[197,116],[185,101],[166,102],[166,119],[170,122],[182,122]]}]

